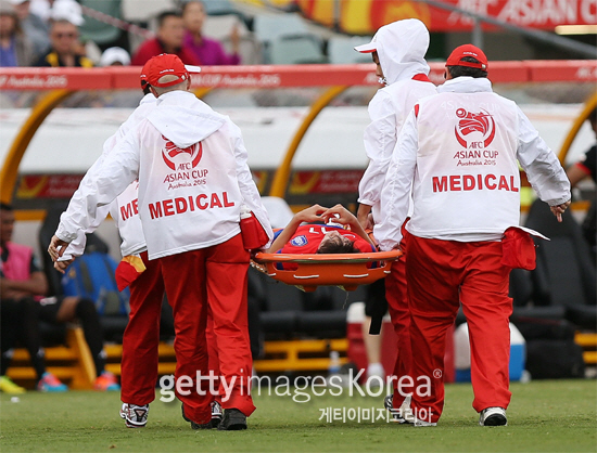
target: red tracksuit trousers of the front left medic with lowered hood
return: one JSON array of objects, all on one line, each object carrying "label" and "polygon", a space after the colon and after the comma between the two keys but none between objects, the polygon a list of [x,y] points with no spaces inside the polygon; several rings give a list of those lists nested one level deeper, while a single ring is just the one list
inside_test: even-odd
[{"label": "red tracksuit trousers of the front left medic with lowered hood", "polygon": [[[198,424],[211,420],[209,381],[196,391],[196,373],[208,376],[205,338],[207,313],[219,354],[219,396],[225,409],[236,407],[245,415],[255,410],[250,394],[251,347],[246,316],[246,273],[249,251],[240,234],[212,247],[160,258],[168,301],[173,307],[176,339],[176,381],[192,387],[176,390],[185,403],[185,414]],[[225,383],[221,381],[225,380]],[[218,387],[216,387],[218,388]],[[190,391],[188,391],[190,390]],[[185,394],[187,393],[187,394]]]}]

